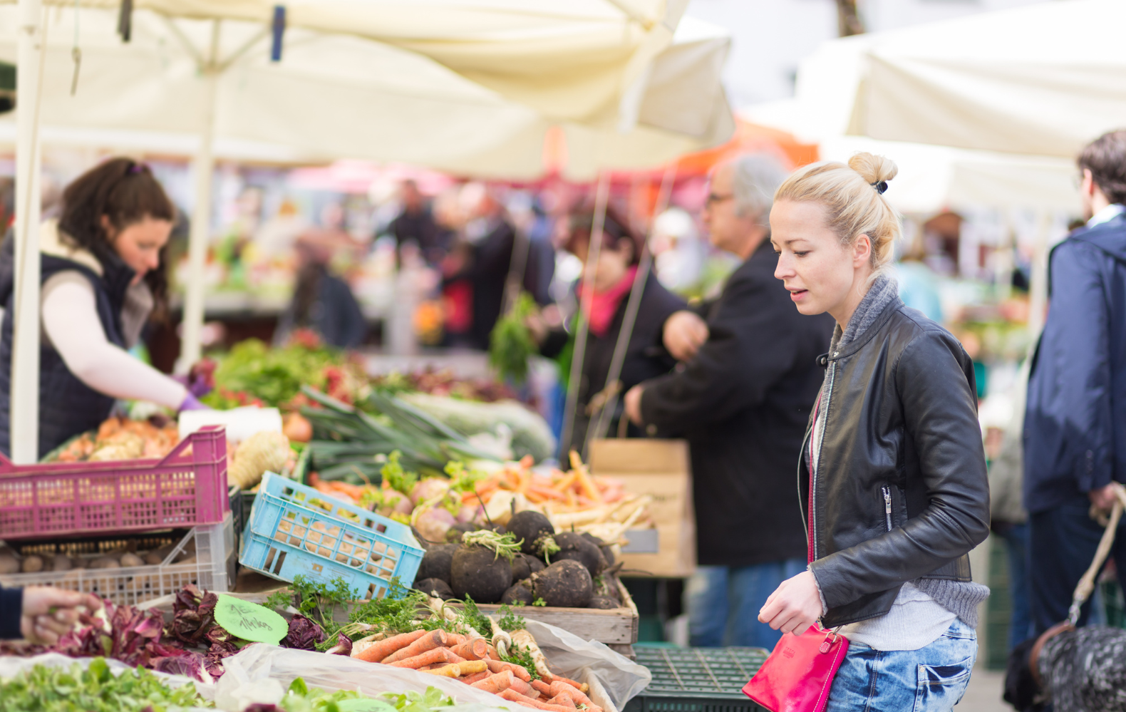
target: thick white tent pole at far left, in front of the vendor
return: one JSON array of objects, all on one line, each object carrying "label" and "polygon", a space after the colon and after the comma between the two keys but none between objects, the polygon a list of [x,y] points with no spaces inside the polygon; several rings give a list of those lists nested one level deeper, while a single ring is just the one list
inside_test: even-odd
[{"label": "thick white tent pole at far left, in front of the vendor", "polygon": [[43,5],[19,0],[16,84],[16,294],[12,303],[11,459],[39,459],[39,98],[43,83]]}]

